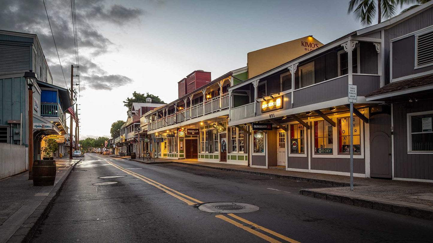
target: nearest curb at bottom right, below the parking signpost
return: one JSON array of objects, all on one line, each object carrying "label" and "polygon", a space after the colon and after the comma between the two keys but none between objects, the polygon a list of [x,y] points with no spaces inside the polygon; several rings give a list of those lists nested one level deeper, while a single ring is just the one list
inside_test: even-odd
[{"label": "nearest curb at bottom right, below the parking signpost", "polygon": [[[310,196],[313,198],[354,205],[362,208],[371,208],[400,215],[407,215],[414,218],[433,220],[433,210],[428,208],[426,205],[405,205],[408,203],[372,197],[355,197],[339,195],[335,193],[325,193],[319,190],[320,189],[301,189],[299,194],[303,196]],[[422,208],[423,206],[425,206],[425,208]]]}]

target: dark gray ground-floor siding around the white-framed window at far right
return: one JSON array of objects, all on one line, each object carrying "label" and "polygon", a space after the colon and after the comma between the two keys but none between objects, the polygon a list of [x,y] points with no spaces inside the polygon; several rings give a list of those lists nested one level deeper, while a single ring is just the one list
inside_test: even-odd
[{"label": "dark gray ground-floor siding around the white-framed window at far right", "polygon": [[433,99],[393,105],[394,177],[433,180],[433,155],[407,153],[407,113],[432,110]]}]

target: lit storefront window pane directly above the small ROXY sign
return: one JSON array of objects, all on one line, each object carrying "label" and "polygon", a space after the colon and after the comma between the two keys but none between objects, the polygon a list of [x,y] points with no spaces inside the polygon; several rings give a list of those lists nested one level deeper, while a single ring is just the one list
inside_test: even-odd
[{"label": "lit storefront window pane directly above the small ROXY sign", "polygon": [[333,153],[332,129],[332,125],[325,120],[314,122],[314,153]]}]

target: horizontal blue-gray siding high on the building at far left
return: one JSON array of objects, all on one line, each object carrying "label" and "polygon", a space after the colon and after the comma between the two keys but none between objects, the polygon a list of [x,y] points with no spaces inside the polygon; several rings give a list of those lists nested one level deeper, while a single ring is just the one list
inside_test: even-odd
[{"label": "horizontal blue-gray siding high on the building at far left", "polygon": [[31,69],[31,48],[30,45],[0,44],[0,73]]}]

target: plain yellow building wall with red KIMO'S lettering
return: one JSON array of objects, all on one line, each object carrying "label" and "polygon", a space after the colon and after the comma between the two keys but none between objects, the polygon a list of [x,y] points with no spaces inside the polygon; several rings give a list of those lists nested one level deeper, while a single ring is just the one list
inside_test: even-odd
[{"label": "plain yellow building wall with red KIMO'S lettering", "polygon": [[255,50],[247,54],[248,78],[264,73],[276,66],[302,56],[323,46],[312,36],[305,36],[293,41]]}]

